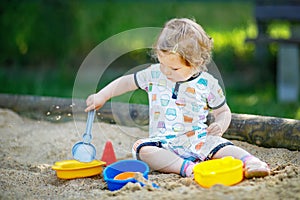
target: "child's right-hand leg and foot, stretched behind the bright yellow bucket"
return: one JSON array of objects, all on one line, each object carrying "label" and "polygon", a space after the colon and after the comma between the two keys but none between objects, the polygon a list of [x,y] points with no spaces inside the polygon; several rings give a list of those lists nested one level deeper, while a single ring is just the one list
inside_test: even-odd
[{"label": "child's right-hand leg and foot, stretched behind the bright yellow bucket", "polygon": [[270,174],[270,168],[265,162],[240,147],[233,145],[225,146],[213,158],[222,158],[225,156],[232,156],[243,161],[246,178],[264,177]]}]

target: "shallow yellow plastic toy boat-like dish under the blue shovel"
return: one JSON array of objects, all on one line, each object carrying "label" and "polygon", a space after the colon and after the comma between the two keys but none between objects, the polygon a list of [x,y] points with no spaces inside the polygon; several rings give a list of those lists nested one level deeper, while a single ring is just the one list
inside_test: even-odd
[{"label": "shallow yellow plastic toy boat-like dish under the blue shovel", "polygon": [[84,163],[77,160],[63,160],[56,162],[52,169],[56,171],[56,175],[61,179],[83,178],[101,174],[105,162],[93,160]]}]

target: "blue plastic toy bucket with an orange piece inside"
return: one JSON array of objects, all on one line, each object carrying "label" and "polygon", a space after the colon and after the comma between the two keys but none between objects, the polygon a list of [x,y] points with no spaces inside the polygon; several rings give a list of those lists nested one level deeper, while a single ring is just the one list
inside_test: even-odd
[{"label": "blue plastic toy bucket with an orange piece inside", "polygon": [[129,182],[138,182],[130,177],[123,180],[115,179],[117,175],[124,172],[140,172],[145,179],[148,179],[149,166],[140,160],[121,160],[107,166],[103,170],[103,177],[110,191],[119,190]]}]

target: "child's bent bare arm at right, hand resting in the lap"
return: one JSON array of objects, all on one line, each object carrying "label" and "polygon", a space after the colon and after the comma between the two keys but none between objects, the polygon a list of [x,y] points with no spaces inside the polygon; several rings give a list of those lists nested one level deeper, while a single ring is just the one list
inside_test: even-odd
[{"label": "child's bent bare arm at right, hand resting in the lap", "polygon": [[222,107],[212,111],[215,121],[207,127],[207,132],[210,135],[222,136],[227,130],[231,121],[231,111],[225,103]]}]

